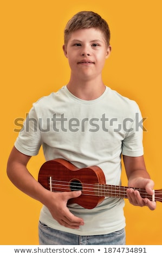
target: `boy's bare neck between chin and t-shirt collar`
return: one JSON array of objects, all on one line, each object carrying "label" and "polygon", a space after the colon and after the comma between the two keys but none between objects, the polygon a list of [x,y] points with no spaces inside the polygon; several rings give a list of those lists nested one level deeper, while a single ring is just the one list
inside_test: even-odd
[{"label": "boy's bare neck between chin and t-shirt collar", "polygon": [[74,96],[81,100],[95,100],[105,92],[105,84],[101,79],[98,81],[79,81],[70,79],[67,88]]}]

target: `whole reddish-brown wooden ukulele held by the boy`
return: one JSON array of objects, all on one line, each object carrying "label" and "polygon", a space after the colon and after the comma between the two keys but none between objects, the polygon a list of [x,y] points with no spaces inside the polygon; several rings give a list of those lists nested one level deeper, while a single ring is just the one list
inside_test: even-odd
[{"label": "whole reddish-brown wooden ukulele held by the boy", "polygon": [[[105,197],[127,198],[126,186],[107,185],[105,175],[98,166],[77,168],[63,159],[54,159],[43,163],[38,174],[38,182],[52,192],[82,191],[81,196],[68,200],[86,209],[93,209]],[[154,190],[153,196],[146,190],[138,190],[142,198],[162,202],[162,190]]]}]

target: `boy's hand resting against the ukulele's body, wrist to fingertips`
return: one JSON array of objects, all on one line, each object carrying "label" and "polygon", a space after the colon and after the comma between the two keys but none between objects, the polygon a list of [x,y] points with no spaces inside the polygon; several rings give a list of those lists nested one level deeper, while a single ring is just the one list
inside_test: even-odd
[{"label": "boy's hand resting against the ukulele's body, wrist to fingertips", "polygon": [[84,225],[82,218],[76,217],[67,208],[67,202],[70,198],[79,197],[81,191],[72,192],[50,192],[47,193],[46,207],[49,209],[53,218],[67,228],[79,229]]}]

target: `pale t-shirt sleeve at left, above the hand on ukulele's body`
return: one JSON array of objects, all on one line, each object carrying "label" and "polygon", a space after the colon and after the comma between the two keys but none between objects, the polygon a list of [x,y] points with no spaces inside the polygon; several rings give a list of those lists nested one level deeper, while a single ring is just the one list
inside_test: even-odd
[{"label": "pale t-shirt sleeve at left, above the hand on ukulele's body", "polygon": [[35,108],[31,108],[20,131],[15,148],[21,153],[29,156],[38,154],[42,144],[41,132]]}]

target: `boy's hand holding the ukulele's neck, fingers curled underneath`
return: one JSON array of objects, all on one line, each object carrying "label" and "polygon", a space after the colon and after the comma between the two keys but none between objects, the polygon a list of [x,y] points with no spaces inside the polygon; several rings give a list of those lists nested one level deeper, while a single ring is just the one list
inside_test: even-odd
[{"label": "boy's hand holding the ukulele's neck, fingers curled underneath", "polygon": [[[136,178],[131,181],[129,187],[140,187],[144,188],[148,194],[152,196],[153,194],[153,186],[154,182],[151,179],[145,178]],[[156,202],[150,201],[148,198],[142,198],[138,190],[134,190],[133,188],[127,189],[127,197],[131,204],[137,206],[148,206],[150,210],[154,210],[156,208]]]}]

